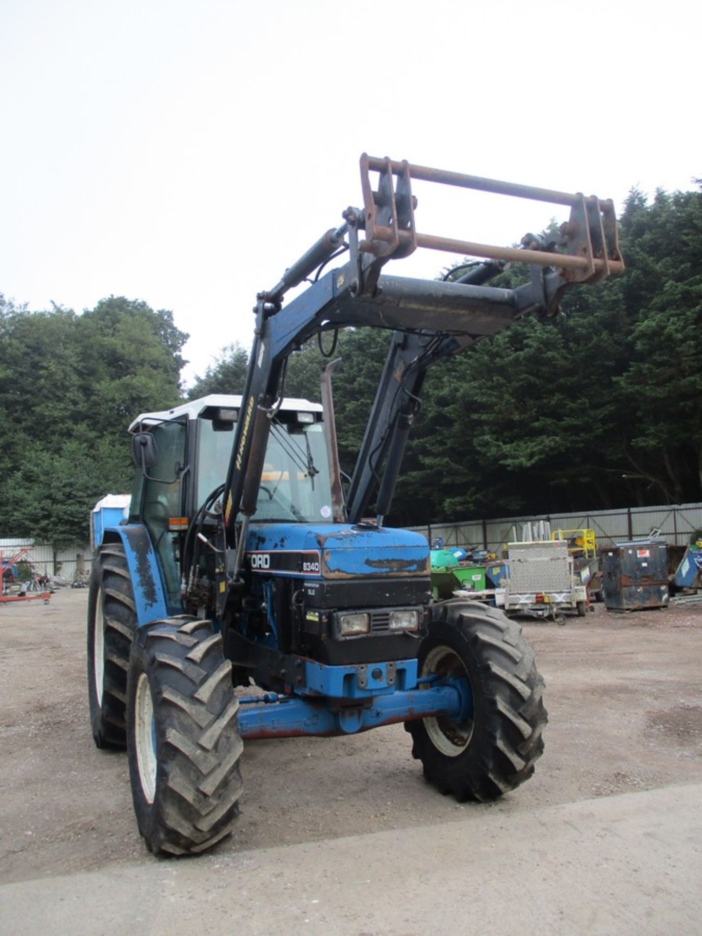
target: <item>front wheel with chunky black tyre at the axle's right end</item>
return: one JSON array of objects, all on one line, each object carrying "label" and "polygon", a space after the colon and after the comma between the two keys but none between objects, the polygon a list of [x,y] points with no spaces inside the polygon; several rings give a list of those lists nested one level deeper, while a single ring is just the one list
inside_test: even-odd
[{"label": "front wheel with chunky black tyre at the axle's right end", "polygon": [[482,802],[528,780],[544,750],[547,712],[544,680],[519,625],[476,602],[446,602],[434,609],[418,663],[420,676],[460,680],[461,695],[473,700],[460,723],[405,723],[425,778],[441,793]]}]

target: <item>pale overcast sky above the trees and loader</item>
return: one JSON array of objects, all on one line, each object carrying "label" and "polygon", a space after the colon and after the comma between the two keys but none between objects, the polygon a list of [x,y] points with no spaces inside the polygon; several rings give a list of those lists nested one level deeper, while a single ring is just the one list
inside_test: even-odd
[{"label": "pale overcast sky above the trees and loader", "polygon": [[[360,204],[366,151],[611,197],[702,176],[698,3],[0,0],[0,292],[170,309],[186,379]],[[417,229],[556,206],[417,185]],[[434,276],[426,251],[396,274]]]}]

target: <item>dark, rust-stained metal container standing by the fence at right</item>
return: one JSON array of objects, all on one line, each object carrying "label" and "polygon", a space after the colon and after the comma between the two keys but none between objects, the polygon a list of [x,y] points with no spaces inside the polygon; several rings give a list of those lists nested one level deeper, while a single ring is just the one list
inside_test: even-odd
[{"label": "dark, rust-stained metal container standing by the fence at right", "polygon": [[666,607],[667,545],[662,537],[615,543],[602,550],[602,592],[611,611]]}]

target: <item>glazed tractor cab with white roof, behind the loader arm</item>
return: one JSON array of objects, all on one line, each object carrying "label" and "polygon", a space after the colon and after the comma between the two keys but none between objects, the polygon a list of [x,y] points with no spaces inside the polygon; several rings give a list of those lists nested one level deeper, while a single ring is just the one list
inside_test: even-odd
[{"label": "glazed tractor cab with white roof, behind the loader arm", "polygon": [[[180,559],[194,545],[186,541],[193,520],[200,518],[197,532],[206,535],[221,514],[240,413],[241,396],[210,394],[142,413],[129,427],[142,469],[135,473],[129,519],[149,531],[174,611],[181,605]],[[322,406],[285,400],[271,417],[256,522],[330,523],[330,503]]]}]

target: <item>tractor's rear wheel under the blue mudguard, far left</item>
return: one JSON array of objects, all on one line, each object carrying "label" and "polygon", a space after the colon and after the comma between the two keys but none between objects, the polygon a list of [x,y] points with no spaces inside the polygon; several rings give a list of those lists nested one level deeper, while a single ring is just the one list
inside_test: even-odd
[{"label": "tractor's rear wheel under the blue mudguard, far left", "polygon": [[88,699],[98,748],[124,748],[126,670],[137,626],[122,544],[96,552],[88,595]]}]

